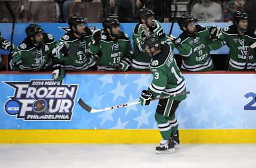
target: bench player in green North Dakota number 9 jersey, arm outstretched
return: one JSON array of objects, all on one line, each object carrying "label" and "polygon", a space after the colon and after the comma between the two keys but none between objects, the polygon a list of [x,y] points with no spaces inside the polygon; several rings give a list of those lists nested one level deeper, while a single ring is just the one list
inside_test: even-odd
[{"label": "bench player in green North Dakota number 9 jersey, arm outstretched", "polygon": [[182,56],[181,68],[188,71],[213,70],[210,50],[217,50],[225,43],[210,39],[210,27],[195,25],[193,17],[182,16],[178,24],[183,31],[175,41]]}]

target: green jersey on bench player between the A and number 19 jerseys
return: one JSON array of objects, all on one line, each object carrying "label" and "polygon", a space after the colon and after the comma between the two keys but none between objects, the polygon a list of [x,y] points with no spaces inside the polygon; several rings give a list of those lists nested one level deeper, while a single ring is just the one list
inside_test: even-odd
[{"label": "green jersey on bench player between the A and number 19 jerseys", "polygon": [[60,52],[60,47],[56,47],[56,55],[54,58],[55,62],[60,63],[64,66],[66,70],[86,70],[89,68],[89,56],[91,53],[89,52],[89,43],[92,41],[92,33],[89,28],[85,28],[86,35],[80,39],[78,39],[73,31],[69,31],[64,34],[60,38],[60,42],[58,46],[68,45],[68,53],[67,55]]}]

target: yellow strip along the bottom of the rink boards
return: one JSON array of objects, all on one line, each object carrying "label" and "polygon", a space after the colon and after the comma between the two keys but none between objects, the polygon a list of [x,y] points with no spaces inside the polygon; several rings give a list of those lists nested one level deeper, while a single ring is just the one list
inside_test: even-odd
[{"label": "yellow strip along the bottom of the rink boards", "polygon": [[[159,143],[158,130],[0,130],[0,143]],[[180,130],[181,143],[256,143],[256,130]]]}]

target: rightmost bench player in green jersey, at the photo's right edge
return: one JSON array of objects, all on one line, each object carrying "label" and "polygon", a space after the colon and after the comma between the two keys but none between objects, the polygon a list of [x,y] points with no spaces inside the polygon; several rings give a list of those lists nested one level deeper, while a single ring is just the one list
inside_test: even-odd
[{"label": "rightmost bench player in green jersey, at the photo's right edge", "polygon": [[[222,28],[212,28],[211,38],[218,38],[229,46],[229,70],[253,70],[256,68],[255,42],[256,30],[248,27],[246,12],[237,11],[234,14],[233,25]],[[254,50],[253,50],[254,48]]]}]

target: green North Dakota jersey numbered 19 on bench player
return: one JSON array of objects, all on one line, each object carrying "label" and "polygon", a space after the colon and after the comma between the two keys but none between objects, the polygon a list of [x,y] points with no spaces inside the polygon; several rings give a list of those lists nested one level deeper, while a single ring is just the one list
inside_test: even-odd
[{"label": "green North Dakota jersey numbered 19 on bench player", "polygon": [[99,44],[90,43],[89,52],[99,55],[98,70],[117,70],[121,60],[124,58],[131,60],[133,54],[127,34],[113,40],[103,29]]}]

